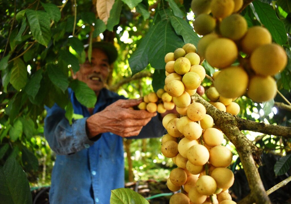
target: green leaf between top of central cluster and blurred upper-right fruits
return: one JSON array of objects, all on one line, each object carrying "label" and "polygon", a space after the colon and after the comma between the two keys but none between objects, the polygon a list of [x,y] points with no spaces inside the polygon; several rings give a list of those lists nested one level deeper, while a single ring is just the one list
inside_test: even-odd
[{"label": "green leaf between top of central cluster and blurred upper-right fruits", "polygon": [[181,35],[183,37],[185,44],[191,43],[194,44],[195,46],[198,45],[200,37],[198,37],[198,35],[193,31],[193,28],[189,25],[189,23],[175,16],[171,16],[170,19],[173,28],[175,29],[178,35]]}]

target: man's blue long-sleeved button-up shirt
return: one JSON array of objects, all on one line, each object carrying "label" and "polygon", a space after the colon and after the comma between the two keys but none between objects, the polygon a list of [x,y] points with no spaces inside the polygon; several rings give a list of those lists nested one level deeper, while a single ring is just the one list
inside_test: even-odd
[{"label": "man's blue long-sleeved button-up shirt", "polygon": [[[71,94],[72,93],[72,94]],[[58,105],[47,108],[44,134],[56,152],[49,192],[51,204],[109,204],[111,190],[124,187],[123,138],[113,133],[102,133],[96,141],[86,135],[86,119],[91,115],[69,90],[74,114],[84,118],[65,118],[65,110]],[[93,111],[97,113],[123,96],[102,89]],[[158,117],[136,137],[161,137],[165,129]]]}]

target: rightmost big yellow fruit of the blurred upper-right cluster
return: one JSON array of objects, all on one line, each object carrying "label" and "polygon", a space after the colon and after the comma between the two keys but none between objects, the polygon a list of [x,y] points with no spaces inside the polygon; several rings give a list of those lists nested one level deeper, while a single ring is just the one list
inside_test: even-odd
[{"label": "rightmost big yellow fruit of the blurred upper-right cluster", "polygon": [[278,44],[264,44],[251,54],[251,67],[263,76],[275,75],[287,65],[287,54]]}]

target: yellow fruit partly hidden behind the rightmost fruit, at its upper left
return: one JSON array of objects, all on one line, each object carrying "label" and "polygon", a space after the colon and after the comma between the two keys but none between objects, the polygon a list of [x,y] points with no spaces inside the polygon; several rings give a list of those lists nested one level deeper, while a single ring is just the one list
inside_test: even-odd
[{"label": "yellow fruit partly hidden behind the rightmost fruit, at its upper left", "polygon": [[242,38],[240,45],[244,53],[251,54],[259,46],[271,43],[272,35],[267,28],[253,26],[246,31],[246,35]]}]

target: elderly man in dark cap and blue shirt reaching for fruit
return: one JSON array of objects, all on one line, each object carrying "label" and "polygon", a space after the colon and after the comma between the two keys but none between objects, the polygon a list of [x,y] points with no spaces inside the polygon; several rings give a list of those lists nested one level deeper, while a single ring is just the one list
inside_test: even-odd
[{"label": "elderly man in dark cap and blue shirt reaching for fruit", "polygon": [[57,154],[49,192],[51,204],[109,204],[111,190],[124,187],[123,137],[164,134],[156,113],[129,109],[142,100],[125,100],[104,88],[109,66],[116,58],[112,44],[94,43],[91,63],[87,60],[72,74],[97,96],[95,107],[88,109],[69,89],[74,114],[84,118],[70,125],[65,110],[56,104],[47,108],[44,134]]}]

